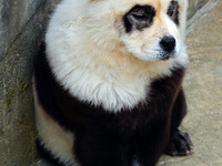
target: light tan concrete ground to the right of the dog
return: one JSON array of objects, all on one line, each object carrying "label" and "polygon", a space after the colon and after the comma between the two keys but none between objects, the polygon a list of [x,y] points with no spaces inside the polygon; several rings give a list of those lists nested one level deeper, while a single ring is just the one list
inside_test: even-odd
[{"label": "light tan concrete ground to the right of the dog", "polygon": [[222,166],[222,1],[198,21],[186,43],[189,113],[181,129],[190,134],[194,154],[164,155],[158,166]]}]

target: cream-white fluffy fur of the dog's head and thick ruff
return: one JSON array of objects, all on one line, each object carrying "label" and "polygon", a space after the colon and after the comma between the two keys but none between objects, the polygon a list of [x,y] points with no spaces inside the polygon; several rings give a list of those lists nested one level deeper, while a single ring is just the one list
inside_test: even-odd
[{"label": "cream-white fluffy fur of the dog's head and thick ruff", "polygon": [[[151,79],[186,65],[184,27],[186,0],[179,0],[181,25],[167,15],[170,0],[64,0],[51,18],[47,54],[53,74],[70,94],[107,111],[131,108],[145,100]],[[124,32],[122,17],[134,4],[160,12],[151,28]],[[161,8],[161,9],[160,9]],[[157,61],[163,35],[176,40],[176,58]]]}]

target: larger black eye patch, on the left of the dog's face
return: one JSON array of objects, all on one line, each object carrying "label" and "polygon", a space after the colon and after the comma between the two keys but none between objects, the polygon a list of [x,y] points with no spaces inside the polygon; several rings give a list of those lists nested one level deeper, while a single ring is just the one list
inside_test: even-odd
[{"label": "larger black eye patch, on the left of the dog's face", "polygon": [[127,32],[132,30],[142,31],[153,23],[155,9],[151,6],[134,6],[124,17],[124,27]]}]

